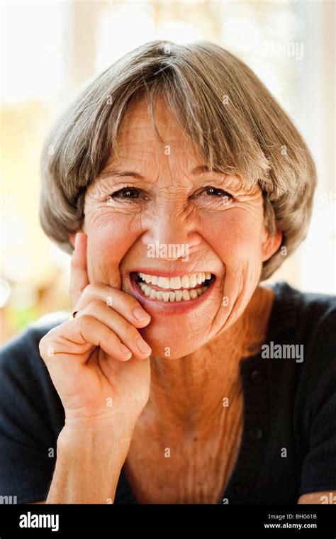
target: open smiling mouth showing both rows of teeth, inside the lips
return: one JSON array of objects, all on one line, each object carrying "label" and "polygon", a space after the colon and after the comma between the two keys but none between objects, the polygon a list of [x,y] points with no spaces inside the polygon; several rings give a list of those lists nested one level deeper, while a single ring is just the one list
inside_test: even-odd
[{"label": "open smiling mouth showing both rows of teeth, inside the lips", "polygon": [[197,299],[206,294],[215,281],[215,275],[209,272],[192,273],[181,277],[159,277],[132,272],[130,277],[144,296],[166,303]]}]

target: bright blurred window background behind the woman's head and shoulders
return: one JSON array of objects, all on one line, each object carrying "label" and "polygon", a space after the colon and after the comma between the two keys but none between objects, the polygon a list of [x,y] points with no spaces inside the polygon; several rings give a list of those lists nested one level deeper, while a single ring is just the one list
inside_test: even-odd
[{"label": "bright blurred window background behind the woman's head and shoulders", "polygon": [[153,39],[228,48],[288,111],[319,184],[308,238],[269,280],[335,294],[333,1],[4,1],[1,9],[1,343],[71,310],[69,255],[38,221],[45,135],[88,79]]}]

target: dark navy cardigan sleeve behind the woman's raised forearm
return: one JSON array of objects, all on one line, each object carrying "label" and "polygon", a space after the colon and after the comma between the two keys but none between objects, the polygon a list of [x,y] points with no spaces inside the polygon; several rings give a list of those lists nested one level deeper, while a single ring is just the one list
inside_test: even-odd
[{"label": "dark navy cardigan sleeve behind the woman's raised forearm", "polygon": [[38,350],[49,329],[28,326],[0,351],[3,503],[42,501],[52,481],[64,409]]}]

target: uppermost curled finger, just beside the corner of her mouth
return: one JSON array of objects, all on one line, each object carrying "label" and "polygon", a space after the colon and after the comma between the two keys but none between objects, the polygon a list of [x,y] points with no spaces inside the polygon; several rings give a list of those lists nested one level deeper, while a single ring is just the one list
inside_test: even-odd
[{"label": "uppermost curled finger, just beside the corner of her mouth", "polygon": [[111,307],[111,310],[121,314],[123,318],[128,320],[136,328],[143,328],[150,323],[150,314],[142,308],[133,296],[121,290],[108,287],[107,284],[89,284],[79,297],[74,310],[80,311],[97,299],[103,301],[108,307]]}]

